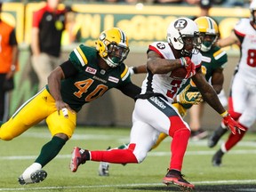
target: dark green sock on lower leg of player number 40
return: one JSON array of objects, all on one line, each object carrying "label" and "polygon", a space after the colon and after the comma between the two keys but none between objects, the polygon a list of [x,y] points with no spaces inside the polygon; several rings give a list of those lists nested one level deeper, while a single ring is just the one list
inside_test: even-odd
[{"label": "dark green sock on lower leg of player number 40", "polygon": [[52,137],[48,143],[46,143],[41,149],[40,155],[36,158],[35,163],[41,164],[44,167],[45,164],[48,164],[52,159],[57,156],[60,152],[60,149],[65,145],[66,140],[62,140],[59,137]]}]

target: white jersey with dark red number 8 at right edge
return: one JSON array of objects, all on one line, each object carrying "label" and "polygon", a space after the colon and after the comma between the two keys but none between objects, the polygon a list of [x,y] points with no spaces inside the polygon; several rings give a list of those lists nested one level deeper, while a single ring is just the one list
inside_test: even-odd
[{"label": "white jersey with dark red number 8 at right edge", "polygon": [[250,19],[241,19],[236,24],[235,33],[241,41],[238,73],[246,83],[256,84],[256,30],[252,28]]}]

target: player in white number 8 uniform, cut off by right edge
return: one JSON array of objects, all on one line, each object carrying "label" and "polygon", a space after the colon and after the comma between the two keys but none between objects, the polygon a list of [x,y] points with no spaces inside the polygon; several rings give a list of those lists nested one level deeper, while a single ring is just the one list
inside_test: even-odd
[{"label": "player in white number 8 uniform, cut off by right edge", "polygon": [[[223,155],[242,140],[256,118],[256,0],[252,1],[250,11],[251,18],[239,20],[230,36],[218,42],[220,47],[240,45],[241,55],[230,86],[228,113],[245,131],[229,135],[228,140],[212,157],[213,166],[220,166]],[[225,132],[226,125],[220,124],[209,138],[208,146],[213,148]]]}]

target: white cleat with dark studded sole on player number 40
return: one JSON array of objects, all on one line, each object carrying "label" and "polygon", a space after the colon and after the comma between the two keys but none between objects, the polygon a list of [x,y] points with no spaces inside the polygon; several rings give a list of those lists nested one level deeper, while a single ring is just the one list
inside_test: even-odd
[{"label": "white cleat with dark studded sole on player number 40", "polygon": [[47,172],[45,172],[44,170],[36,170],[36,172],[32,172],[28,177],[26,177],[23,174],[20,175],[20,177],[18,178],[18,181],[20,185],[27,185],[31,183],[41,182],[45,180],[46,177],[47,177]]}]

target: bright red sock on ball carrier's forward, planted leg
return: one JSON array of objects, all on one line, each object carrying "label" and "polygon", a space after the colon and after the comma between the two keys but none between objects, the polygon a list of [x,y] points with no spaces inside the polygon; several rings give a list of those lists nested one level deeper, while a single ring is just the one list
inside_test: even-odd
[{"label": "bright red sock on ball carrier's forward, planted leg", "polygon": [[181,170],[189,137],[190,132],[187,128],[174,132],[171,143],[172,157],[170,170]]}]

